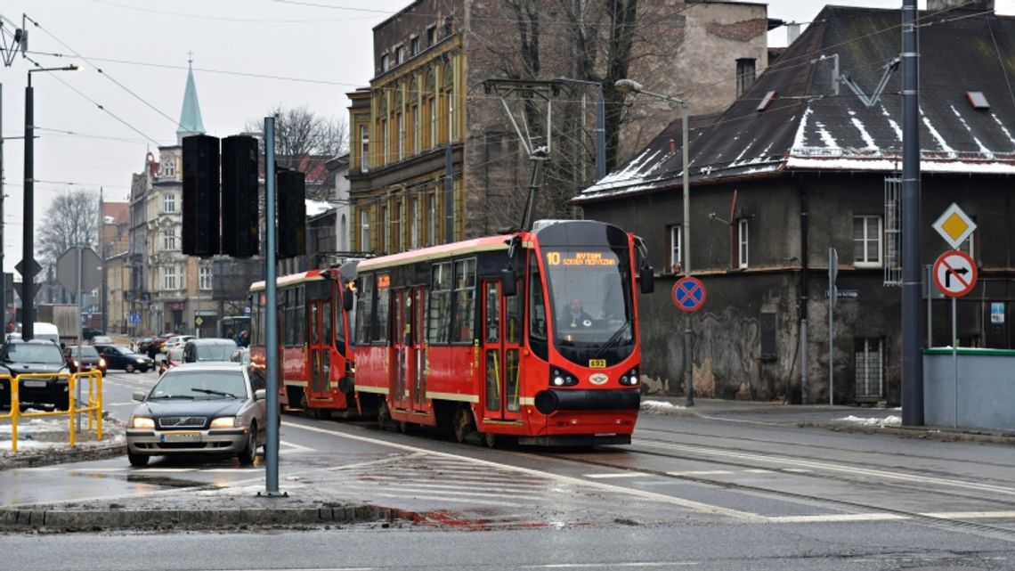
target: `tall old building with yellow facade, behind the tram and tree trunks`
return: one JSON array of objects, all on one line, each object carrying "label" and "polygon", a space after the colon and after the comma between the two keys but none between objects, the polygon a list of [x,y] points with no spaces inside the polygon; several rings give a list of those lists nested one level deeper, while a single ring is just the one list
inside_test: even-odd
[{"label": "tall old building with yellow facade, behind the tram and tree trunks", "polygon": [[[577,215],[566,200],[595,180],[600,97],[608,104],[607,132],[615,120],[620,133],[608,137],[608,156],[644,145],[659,115],[669,115],[658,102],[635,111],[622,105],[607,44],[623,39],[610,36],[602,6],[581,3],[591,11],[577,13],[577,3],[520,5],[532,11],[516,13],[501,2],[417,0],[374,28],[374,78],[348,94],[352,249],[400,252],[517,225],[532,165],[504,105],[533,145],[550,143],[536,206],[541,216]],[[763,4],[638,5],[641,24],[629,26],[638,57],[626,75],[686,99],[697,112],[724,109],[738,85],[746,88],[767,64]],[[585,34],[584,44],[574,31]],[[589,77],[598,80],[590,85]],[[586,83],[551,85],[558,78]],[[523,86],[501,103],[484,88],[489,79]],[[552,112],[544,99],[553,100]]]}]

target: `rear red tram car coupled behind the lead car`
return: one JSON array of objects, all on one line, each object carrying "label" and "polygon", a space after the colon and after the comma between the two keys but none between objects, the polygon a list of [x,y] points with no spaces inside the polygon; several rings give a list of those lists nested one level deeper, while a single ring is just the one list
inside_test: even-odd
[{"label": "rear red tram car coupled behind the lead car", "polygon": [[[276,279],[279,404],[322,418],[357,415],[352,398],[352,293],[356,262]],[[251,362],[265,365],[265,281],[251,286]]]}]

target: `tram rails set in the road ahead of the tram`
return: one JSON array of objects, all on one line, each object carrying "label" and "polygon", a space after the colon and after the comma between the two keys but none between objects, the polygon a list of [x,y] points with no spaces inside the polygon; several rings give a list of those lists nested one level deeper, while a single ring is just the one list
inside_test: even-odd
[{"label": "tram rails set in the road ahead of the tram", "polygon": [[[641,438],[641,439],[638,439],[638,440],[644,441],[646,439]],[[662,442],[664,442],[665,444],[672,444],[671,442],[665,442],[665,441],[662,441]],[[704,446],[700,446],[700,445],[695,445],[695,446],[699,446],[701,448],[704,448]],[[839,509],[844,509],[844,510],[860,511],[861,513],[863,513],[863,512],[874,512],[874,513],[878,514],[880,517],[870,517],[871,519],[908,520],[908,521],[913,521],[913,522],[919,522],[919,523],[923,523],[923,524],[926,524],[926,525],[934,526],[934,527],[937,527],[937,528],[963,529],[963,530],[967,530],[967,531],[970,531],[970,532],[975,532],[978,535],[989,536],[989,537],[993,537],[993,538],[1001,538],[1001,540],[1006,541],[1006,542],[1015,543],[1015,528],[1009,528],[1009,527],[1004,527],[1004,526],[1000,526],[1000,525],[994,525],[994,524],[991,524],[991,523],[983,523],[983,522],[977,522],[977,521],[969,521],[967,519],[961,519],[961,518],[958,518],[958,517],[947,516],[947,515],[944,515],[944,514],[936,514],[935,512],[925,512],[925,511],[917,511],[917,510],[911,510],[911,509],[891,508],[891,507],[885,507],[885,506],[882,506],[882,505],[878,505],[878,504],[875,504],[875,503],[865,503],[865,502],[842,500],[842,499],[830,498],[830,497],[827,497],[827,496],[816,495],[816,494],[807,494],[807,493],[801,493],[801,492],[792,492],[792,491],[788,491],[788,490],[772,489],[770,487],[765,487],[765,486],[751,485],[751,484],[738,483],[738,482],[720,481],[720,480],[705,478],[703,475],[694,475],[694,474],[689,474],[689,473],[675,474],[675,473],[672,473],[672,472],[670,472],[668,470],[664,470],[664,469],[653,469],[653,468],[636,467],[636,466],[631,466],[630,465],[629,455],[630,454],[634,454],[634,455],[642,455],[642,456],[652,456],[652,457],[656,457],[656,458],[671,458],[671,459],[674,459],[674,460],[688,460],[688,461],[695,461],[695,462],[707,462],[707,463],[719,464],[719,465],[722,465],[722,466],[737,467],[737,468],[743,468],[743,469],[757,468],[758,467],[758,463],[757,462],[751,463],[751,462],[744,461],[744,460],[738,461],[738,460],[734,460],[734,459],[716,459],[716,458],[703,459],[700,456],[693,456],[693,455],[690,455],[690,454],[677,454],[677,453],[673,453],[673,452],[661,452],[661,451],[653,451],[653,450],[644,450],[644,449],[639,449],[636,443],[631,448],[628,448],[626,451],[627,451],[627,455],[626,455],[627,456],[627,461],[623,461],[623,462],[620,462],[620,461],[610,461],[609,458],[607,458],[605,456],[600,456],[600,457],[597,457],[597,458],[576,457],[573,454],[570,454],[570,453],[542,452],[542,453],[540,453],[540,455],[544,456],[544,457],[548,457],[548,458],[553,458],[553,459],[558,460],[558,461],[570,462],[570,463],[579,464],[579,465],[590,465],[590,466],[597,466],[597,467],[604,467],[604,468],[612,468],[612,469],[617,469],[617,470],[623,470],[623,471],[629,472],[629,473],[644,473],[644,474],[647,474],[647,475],[654,475],[654,477],[663,478],[663,479],[672,479],[672,480],[675,480],[675,481],[693,482],[693,483],[696,483],[696,484],[701,484],[701,485],[705,485],[705,486],[713,486],[713,487],[717,487],[717,488],[721,488],[721,489],[729,490],[729,491],[740,491],[740,492],[746,492],[746,493],[751,493],[751,494],[757,494],[757,495],[760,495],[760,496],[763,496],[763,497],[768,497],[768,498],[787,499],[787,500],[793,500],[793,501],[797,501],[797,502],[805,502],[805,503],[809,503],[809,504],[825,505],[825,506],[829,506],[829,507],[833,507],[833,508],[839,508]],[[761,455],[761,454],[757,454],[757,453],[753,453],[753,454],[755,454],[757,456]],[[764,454],[764,455],[771,455],[771,454]],[[791,460],[800,461],[799,459],[790,458],[790,457],[785,456],[785,455],[783,456],[783,458],[780,461],[787,461],[788,462],[788,461],[791,461]],[[802,461],[806,462],[806,460],[802,460]],[[786,470],[772,469],[772,468],[765,468],[765,469],[766,469],[766,471],[792,474],[792,475],[798,477],[798,478],[799,477],[804,477],[804,478],[808,478],[808,477],[809,478],[814,478],[815,477],[815,474],[811,473],[811,472],[786,471]],[[888,470],[883,470],[882,469],[881,471],[883,471],[885,473],[889,473]],[[840,483],[843,483],[843,484],[847,484],[847,485],[864,485],[864,486],[870,485],[869,481],[865,481],[865,480],[857,479],[857,478],[850,478],[850,477],[845,475],[844,472],[843,473],[821,472],[820,477],[822,478],[822,480],[825,480],[825,481],[827,481],[827,480],[834,480],[836,482],[840,482]],[[956,481],[956,482],[958,482],[958,481]],[[977,487],[975,485],[975,483],[962,483],[962,484],[969,485],[970,487],[972,487],[974,489],[982,489],[982,488]],[[901,484],[894,484],[894,483],[893,484],[884,484],[884,483],[882,483],[882,485],[890,487],[890,488],[893,488],[893,489],[898,489],[900,491],[910,491],[911,492],[911,488],[904,488]],[[1002,506],[1003,507],[1007,507],[1008,508],[1007,511],[1015,513],[1015,488],[1003,488],[1003,487],[991,487],[991,488],[992,489],[998,489],[998,490],[1004,490],[1006,493],[1008,493],[1008,494],[1011,495],[1011,499],[1009,499],[1009,500],[999,500],[995,496],[992,496],[990,498],[976,497],[976,496],[971,496],[970,497],[968,495],[963,495],[963,494],[949,492],[949,491],[942,491],[942,490],[936,490],[935,494],[944,495],[944,496],[947,496],[949,498],[954,498],[954,499],[964,499],[964,500],[972,499],[972,500],[980,500],[980,501],[990,500],[990,501],[992,501],[995,504],[1000,504],[999,507],[1002,507]],[[987,491],[988,491],[988,489],[984,489],[985,494],[986,494]],[[869,517],[869,516],[865,516],[865,518],[867,518],[867,517]],[[806,522],[808,520],[807,516],[801,516],[801,517],[797,517],[797,516],[790,516],[790,517],[774,516],[774,517],[767,517],[766,519],[767,519],[768,522],[771,522],[771,523]],[[834,519],[834,517],[819,516],[819,517],[815,517],[814,518],[815,521],[830,520],[830,519]],[[848,521],[850,519],[851,519],[851,516],[849,514],[842,516],[842,518],[841,518],[841,520],[843,520],[843,521]],[[858,518],[858,519],[860,519],[860,518]]]}]

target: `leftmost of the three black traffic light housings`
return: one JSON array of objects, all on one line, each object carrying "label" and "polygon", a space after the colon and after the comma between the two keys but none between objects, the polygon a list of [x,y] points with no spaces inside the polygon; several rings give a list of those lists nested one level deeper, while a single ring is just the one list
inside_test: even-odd
[{"label": "leftmost of the three black traffic light housings", "polygon": [[218,253],[218,137],[184,137],[184,254]]}]

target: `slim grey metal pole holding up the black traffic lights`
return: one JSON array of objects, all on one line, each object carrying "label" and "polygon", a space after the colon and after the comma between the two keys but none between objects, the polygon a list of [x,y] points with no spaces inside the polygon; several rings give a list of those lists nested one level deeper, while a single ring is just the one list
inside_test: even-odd
[{"label": "slim grey metal pole holding up the black traffic lights", "polygon": [[278,314],[275,283],[275,118],[264,118],[265,148],[265,343],[264,362],[268,370],[268,442],[264,445],[264,495],[284,496],[278,492]]}]

